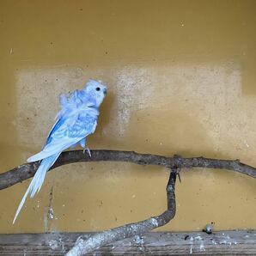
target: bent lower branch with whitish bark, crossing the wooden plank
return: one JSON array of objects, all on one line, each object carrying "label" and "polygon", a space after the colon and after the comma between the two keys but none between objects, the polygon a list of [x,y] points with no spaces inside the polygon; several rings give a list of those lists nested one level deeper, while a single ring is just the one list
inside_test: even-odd
[{"label": "bent lower branch with whitish bark, crossing the wooden plank", "polygon": [[170,222],[175,216],[176,202],[175,202],[175,170],[170,172],[170,178],[167,185],[168,196],[168,210],[164,211],[162,215],[153,216],[141,222],[130,223],[124,226],[110,229],[102,233],[92,235],[89,238],[79,237],[76,244],[71,248],[68,256],[84,255],[85,253],[93,252],[97,247],[105,246],[113,241],[123,240],[133,235],[141,235],[150,230],[159,228]]}]

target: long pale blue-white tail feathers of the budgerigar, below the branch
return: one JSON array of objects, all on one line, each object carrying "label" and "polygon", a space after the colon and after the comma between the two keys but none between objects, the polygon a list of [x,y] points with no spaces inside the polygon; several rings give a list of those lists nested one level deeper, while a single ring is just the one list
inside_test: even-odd
[{"label": "long pale blue-white tail feathers of the budgerigar, below the branch", "polygon": [[52,167],[53,163],[56,162],[59,155],[60,155],[60,153],[51,155],[42,160],[42,162],[40,163],[40,167],[37,169],[36,173],[34,174],[33,180],[31,180],[31,183],[29,184],[29,186],[27,188],[27,192],[21,199],[21,203],[20,203],[18,209],[16,210],[13,223],[15,222],[17,216],[19,215],[21,208],[22,208],[23,204],[25,203],[28,193],[30,193],[30,198],[34,198],[35,193],[40,191],[40,188],[43,185],[44,180],[46,178],[46,172]]}]

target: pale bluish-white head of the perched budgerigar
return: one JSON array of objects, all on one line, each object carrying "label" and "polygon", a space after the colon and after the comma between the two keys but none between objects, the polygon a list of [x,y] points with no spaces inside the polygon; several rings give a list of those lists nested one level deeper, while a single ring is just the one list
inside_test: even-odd
[{"label": "pale bluish-white head of the perched budgerigar", "polygon": [[86,87],[83,88],[89,97],[93,98],[96,102],[96,107],[100,107],[101,102],[104,100],[107,94],[107,87],[102,82],[89,79],[86,83]]}]

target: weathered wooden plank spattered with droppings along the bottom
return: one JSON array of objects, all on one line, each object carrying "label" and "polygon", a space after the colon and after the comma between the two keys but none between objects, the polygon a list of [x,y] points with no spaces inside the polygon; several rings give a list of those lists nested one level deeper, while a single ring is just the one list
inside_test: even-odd
[{"label": "weathered wooden plank spattered with droppings along the bottom", "polygon": [[[50,233],[0,235],[0,255],[64,255],[79,235]],[[152,232],[101,247],[91,255],[256,255],[256,231]]]}]

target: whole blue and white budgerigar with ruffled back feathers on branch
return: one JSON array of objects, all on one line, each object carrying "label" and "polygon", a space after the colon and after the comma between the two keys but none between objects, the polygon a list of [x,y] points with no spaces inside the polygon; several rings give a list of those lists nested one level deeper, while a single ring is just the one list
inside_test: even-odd
[{"label": "whole blue and white budgerigar with ruffled back feathers on branch", "polygon": [[33,198],[35,193],[40,191],[46,172],[56,162],[64,149],[80,144],[90,155],[86,146],[86,137],[95,131],[100,114],[99,107],[106,94],[107,88],[105,85],[90,79],[81,90],[77,89],[70,94],[60,95],[61,110],[56,117],[57,120],[52,127],[52,131],[46,139],[45,146],[40,153],[27,159],[27,162],[40,161],[40,167],[21,199],[15,213],[14,222],[25,203],[27,194],[30,193],[30,197]]}]

